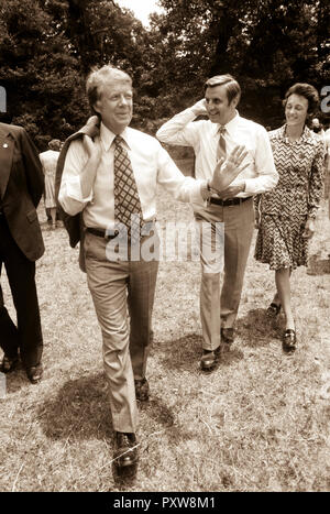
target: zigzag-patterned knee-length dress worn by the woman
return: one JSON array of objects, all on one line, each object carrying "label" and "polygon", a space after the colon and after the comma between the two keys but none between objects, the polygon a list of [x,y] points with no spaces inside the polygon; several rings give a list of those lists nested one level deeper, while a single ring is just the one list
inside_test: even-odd
[{"label": "zigzag-patterned knee-length dress worn by the woman", "polygon": [[305,127],[299,140],[290,142],[285,129],[268,133],[278,183],[255,198],[261,221],[254,256],[271,270],[307,265],[308,240],[302,232],[307,216],[316,217],[323,192],[322,139]]}]

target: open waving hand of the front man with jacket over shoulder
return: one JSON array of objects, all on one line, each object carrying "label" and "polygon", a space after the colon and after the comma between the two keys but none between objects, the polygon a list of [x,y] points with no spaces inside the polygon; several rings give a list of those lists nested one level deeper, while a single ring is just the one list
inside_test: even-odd
[{"label": "open waving hand of the front man with jacket over shoulder", "polygon": [[218,194],[221,194],[220,196],[223,196],[226,192],[226,197],[235,196],[235,194],[242,192],[243,189],[241,186],[238,186],[240,190],[235,192],[229,190],[229,186],[237,178],[237,176],[249,166],[249,162],[245,164],[243,163],[246,156],[248,150],[245,146],[238,144],[230,152],[226,161],[223,157],[220,158],[216,165],[213,176],[210,182],[210,187],[216,189]]}]

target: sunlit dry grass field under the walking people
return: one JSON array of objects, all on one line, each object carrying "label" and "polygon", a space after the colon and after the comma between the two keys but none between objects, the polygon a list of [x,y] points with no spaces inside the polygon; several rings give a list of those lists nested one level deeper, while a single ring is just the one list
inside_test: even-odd
[{"label": "sunlit dry grass field under the walking people", "polygon": [[[185,163],[184,163],[185,164]],[[162,262],[135,478],[113,473],[101,336],[78,251],[47,231],[37,262],[44,379],[7,376],[0,400],[0,491],[329,491],[330,222],[319,211],[308,270],[293,277],[299,349],[283,354],[283,318],[265,316],[274,275],[251,248],[237,340],[211,374],[199,371],[198,262]],[[158,221],[190,220],[160,194]],[[7,278],[7,305],[13,314]]]}]

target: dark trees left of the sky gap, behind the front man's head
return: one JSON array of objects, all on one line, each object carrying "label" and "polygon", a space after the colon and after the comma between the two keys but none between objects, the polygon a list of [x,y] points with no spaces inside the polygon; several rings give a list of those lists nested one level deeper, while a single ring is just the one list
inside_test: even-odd
[{"label": "dark trees left of the sky gap, behind the front man's head", "polygon": [[[22,124],[41,149],[85,123],[90,113],[85,81],[92,66],[122,67],[139,90],[146,31],[130,11],[109,0],[8,0],[0,6],[7,120]],[[142,100],[135,123],[144,114]]]}]

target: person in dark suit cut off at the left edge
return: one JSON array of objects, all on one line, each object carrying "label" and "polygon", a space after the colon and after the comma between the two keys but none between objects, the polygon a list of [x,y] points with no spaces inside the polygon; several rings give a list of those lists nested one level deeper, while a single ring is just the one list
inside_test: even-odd
[{"label": "person in dark suit cut off at the left edge", "polygon": [[0,123],[0,277],[4,264],[18,326],[3,303],[0,283],[1,371],[13,371],[19,358],[29,380],[43,373],[43,336],[35,286],[35,261],[44,253],[36,207],[44,190],[37,151],[25,130]]}]

